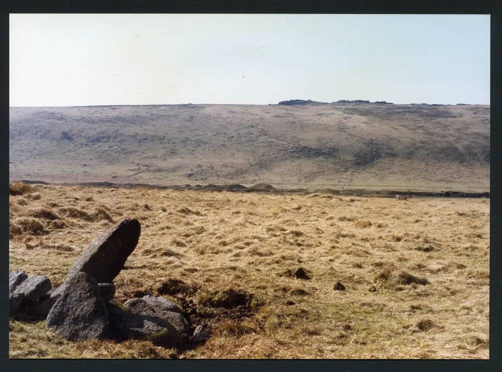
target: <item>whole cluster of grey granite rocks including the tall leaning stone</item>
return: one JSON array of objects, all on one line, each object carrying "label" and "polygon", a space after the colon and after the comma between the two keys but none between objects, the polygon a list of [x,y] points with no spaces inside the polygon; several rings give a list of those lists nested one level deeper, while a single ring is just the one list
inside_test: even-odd
[{"label": "whole cluster of grey granite rocks including the tall leaning stone", "polygon": [[149,339],[162,346],[179,346],[210,335],[189,323],[183,310],[163,297],[113,300],[113,279],[134,251],[141,233],[138,220],[125,219],[99,235],[71,266],[66,280],[53,287],[46,276],[9,274],[9,316],[46,317],[46,327],[68,340],[111,338]]}]

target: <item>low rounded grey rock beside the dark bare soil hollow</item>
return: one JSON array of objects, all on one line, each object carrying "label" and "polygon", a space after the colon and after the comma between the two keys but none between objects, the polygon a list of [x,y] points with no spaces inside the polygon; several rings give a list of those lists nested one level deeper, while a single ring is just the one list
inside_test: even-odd
[{"label": "low rounded grey rock beside the dark bare soil hollow", "polygon": [[171,323],[180,334],[187,331],[183,310],[174,302],[163,297],[132,298],[124,302],[124,306],[133,314],[150,315],[164,319]]}]

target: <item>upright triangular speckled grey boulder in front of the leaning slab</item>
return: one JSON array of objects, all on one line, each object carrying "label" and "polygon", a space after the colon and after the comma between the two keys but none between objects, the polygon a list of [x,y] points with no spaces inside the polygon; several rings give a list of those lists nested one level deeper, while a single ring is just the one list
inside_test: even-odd
[{"label": "upright triangular speckled grey boulder in front of the leaning slab", "polygon": [[104,337],[108,323],[108,310],[96,281],[77,272],[65,281],[46,326],[68,340],[80,340]]}]

